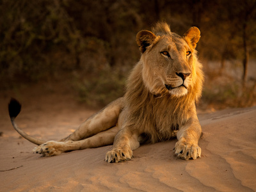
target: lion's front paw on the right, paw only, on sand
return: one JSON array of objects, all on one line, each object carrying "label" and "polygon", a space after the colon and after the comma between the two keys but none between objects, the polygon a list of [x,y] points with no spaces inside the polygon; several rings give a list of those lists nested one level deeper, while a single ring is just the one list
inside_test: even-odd
[{"label": "lion's front paw on the right, paw only, on sand", "polygon": [[175,154],[177,154],[180,159],[196,159],[201,156],[201,148],[197,144],[179,140],[175,144]]}]

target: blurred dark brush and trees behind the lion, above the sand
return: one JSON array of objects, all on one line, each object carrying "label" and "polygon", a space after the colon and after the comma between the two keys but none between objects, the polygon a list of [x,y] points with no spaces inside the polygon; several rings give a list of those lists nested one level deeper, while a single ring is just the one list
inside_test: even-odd
[{"label": "blurred dark brush and trees behind the lion, above the sand", "polygon": [[140,59],[138,31],[163,20],[179,35],[201,31],[200,109],[256,105],[255,0],[1,0],[0,15],[3,97],[64,89],[77,102],[104,106],[124,95]]}]

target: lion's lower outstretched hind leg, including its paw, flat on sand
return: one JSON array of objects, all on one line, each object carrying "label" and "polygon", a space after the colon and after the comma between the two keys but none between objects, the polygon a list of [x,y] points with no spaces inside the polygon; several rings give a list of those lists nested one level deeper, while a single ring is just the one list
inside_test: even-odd
[{"label": "lion's lower outstretched hind leg, including its paw, flat on sand", "polygon": [[33,152],[42,154],[42,156],[56,156],[62,152],[71,150],[82,150],[85,148],[102,147],[113,144],[116,133],[119,131],[118,127],[112,127],[107,131],[99,132],[90,138],[80,141],[48,141],[38,147],[35,147]]}]

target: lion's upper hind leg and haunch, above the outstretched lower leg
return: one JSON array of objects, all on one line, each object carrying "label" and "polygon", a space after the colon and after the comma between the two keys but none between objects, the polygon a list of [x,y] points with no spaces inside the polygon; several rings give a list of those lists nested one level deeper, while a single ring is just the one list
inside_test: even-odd
[{"label": "lion's upper hind leg and haunch, above the outstretched lower leg", "polygon": [[79,141],[89,138],[99,132],[114,127],[118,121],[118,116],[123,109],[123,98],[116,99],[106,108],[100,110],[95,115],[88,118],[78,129],[67,138],[60,141]]}]

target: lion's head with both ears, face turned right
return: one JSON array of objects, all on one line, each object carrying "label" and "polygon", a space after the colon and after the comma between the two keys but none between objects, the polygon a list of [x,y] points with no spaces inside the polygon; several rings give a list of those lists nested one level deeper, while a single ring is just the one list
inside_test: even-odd
[{"label": "lion's head with both ears, face turned right", "polygon": [[182,97],[193,90],[194,98],[200,97],[204,78],[195,51],[199,39],[196,27],[179,36],[166,23],[158,23],[152,32],[143,30],[137,34],[143,82],[151,93]]}]

